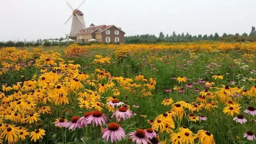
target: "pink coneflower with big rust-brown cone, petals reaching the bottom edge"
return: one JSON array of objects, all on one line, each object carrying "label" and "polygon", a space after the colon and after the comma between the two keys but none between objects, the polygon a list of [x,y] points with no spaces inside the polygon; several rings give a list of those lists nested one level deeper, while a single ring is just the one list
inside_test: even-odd
[{"label": "pink coneflower with big rust-brown cone, petals reaching the bottom edge", "polygon": [[148,144],[148,142],[151,143],[148,137],[146,136],[145,131],[142,129],[130,132],[129,137],[132,139],[132,142],[135,142],[135,144]]}]

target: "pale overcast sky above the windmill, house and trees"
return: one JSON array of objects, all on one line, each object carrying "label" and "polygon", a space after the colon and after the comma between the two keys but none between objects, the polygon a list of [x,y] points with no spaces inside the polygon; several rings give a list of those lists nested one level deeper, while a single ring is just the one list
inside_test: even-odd
[{"label": "pale overcast sky above the windmill, house and trees", "polygon": [[[83,0],[67,0],[76,8]],[[86,0],[79,8],[91,23],[114,24],[136,34],[250,33],[256,0]],[[60,38],[70,33],[66,0],[1,0],[0,41]]]}]

